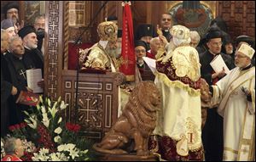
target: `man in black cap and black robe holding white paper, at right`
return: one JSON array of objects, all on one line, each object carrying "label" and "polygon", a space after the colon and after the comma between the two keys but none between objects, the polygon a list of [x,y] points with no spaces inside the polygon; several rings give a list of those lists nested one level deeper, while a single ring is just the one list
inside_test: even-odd
[{"label": "man in black cap and black robe holding white paper, at right", "polygon": [[[224,70],[219,73],[212,70],[210,63],[216,56],[220,54],[230,70],[235,67],[230,55],[221,53],[222,38],[223,32],[212,27],[206,36],[208,50],[200,54],[201,77],[209,85],[214,85],[226,75]],[[207,121],[202,130],[206,160],[222,160],[223,158],[223,118],[216,110],[217,108],[207,109]]]}]

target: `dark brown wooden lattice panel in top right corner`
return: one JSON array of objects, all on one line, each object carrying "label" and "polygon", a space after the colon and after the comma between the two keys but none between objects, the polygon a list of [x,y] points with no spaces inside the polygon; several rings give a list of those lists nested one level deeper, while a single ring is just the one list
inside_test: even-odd
[{"label": "dark brown wooden lattice panel in top right corner", "polygon": [[227,22],[233,39],[240,35],[255,37],[254,1],[219,1],[218,15]]}]

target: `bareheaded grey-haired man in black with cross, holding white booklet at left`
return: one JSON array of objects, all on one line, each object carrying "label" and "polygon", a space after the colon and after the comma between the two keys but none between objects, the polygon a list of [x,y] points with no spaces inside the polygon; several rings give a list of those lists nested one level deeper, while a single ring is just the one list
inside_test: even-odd
[{"label": "bareheaded grey-haired man in black with cross, holding white booklet at left", "polygon": [[15,103],[15,101],[21,91],[31,91],[27,87],[26,70],[35,68],[35,66],[30,58],[24,57],[25,49],[19,36],[13,36],[9,44],[9,53],[1,60],[1,70],[3,72],[3,81],[7,81],[9,86],[17,88],[17,92],[7,98],[9,116],[11,116],[9,117],[9,124],[15,125],[24,120],[24,115],[21,111],[30,109],[26,105]]}]

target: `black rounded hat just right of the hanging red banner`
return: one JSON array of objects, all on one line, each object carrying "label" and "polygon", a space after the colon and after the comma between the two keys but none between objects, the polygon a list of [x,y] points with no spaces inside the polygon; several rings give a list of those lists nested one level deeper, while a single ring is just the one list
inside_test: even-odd
[{"label": "black rounded hat just right of the hanging red banner", "polygon": [[154,26],[153,25],[148,25],[148,24],[143,24],[139,25],[137,28],[137,40],[141,39],[143,36],[155,36],[155,31],[154,31]]}]

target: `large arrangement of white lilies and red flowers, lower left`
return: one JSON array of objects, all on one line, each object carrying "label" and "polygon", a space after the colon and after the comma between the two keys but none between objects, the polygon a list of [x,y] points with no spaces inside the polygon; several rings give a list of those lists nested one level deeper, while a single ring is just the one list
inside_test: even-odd
[{"label": "large arrangement of white lilies and red flowers, lower left", "polygon": [[[80,126],[66,123],[62,120],[59,111],[66,109],[67,104],[61,98],[52,103],[49,98],[43,100],[32,114],[25,111],[27,115],[24,125],[12,126],[11,136],[22,138],[26,156],[24,160],[33,161],[73,161],[89,160],[87,140],[77,137]],[[27,129],[27,130],[26,130]],[[23,134],[24,133],[24,134]],[[23,137],[25,139],[23,139]],[[32,142],[27,142],[32,140]],[[1,159],[5,155],[1,138]],[[73,144],[76,143],[77,145]],[[36,147],[37,148],[36,148]],[[39,150],[39,151],[38,151]],[[82,151],[84,150],[84,151]],[[90,154],[90,152],[89,152]]]}]

